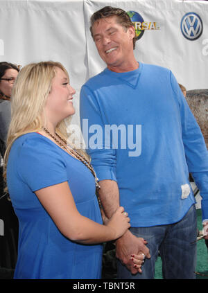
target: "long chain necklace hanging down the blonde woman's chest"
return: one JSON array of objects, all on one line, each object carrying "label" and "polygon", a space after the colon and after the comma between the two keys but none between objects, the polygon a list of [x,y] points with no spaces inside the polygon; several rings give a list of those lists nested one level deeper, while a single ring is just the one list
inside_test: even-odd
[{"label": "long chain necklace hanging down the blonde woman's chest", "polygon": [[[98,204],[101,208],[101,199],[98,196],[98,190],[101,188],[101,186],[98,184],[98,177],[96,177],[96,172],[94,168],[92,167],[91,163],[89,163],[89,161],[87,161],[87,159],[85,159],[76,150],[73,150],[73,148],[71,147],[69,148],[69,146],[67,145],[67,141],[65,139],[62,139],[62,137],[58,133],[55,132],[55,135],[58,137],[59,140],[53,134],[51,134],[51,132],[49,132],[49,130],[47,130],[45,127],[43,128],[43,130],[44,132],[46,132],[46,134],[49,134],[49,136],[51,136],[52,139],[54,139],[60,145],[61,148],[64,148],[65,150],[70,152],[73,155],[73,157],[76,157],[76,159],[81,161],[92,172],[92,175],[94,176],[95,184],[96,184],[96,196],[98,198]],[[62,141],[64,144],[61,143],[60,141]]]}]

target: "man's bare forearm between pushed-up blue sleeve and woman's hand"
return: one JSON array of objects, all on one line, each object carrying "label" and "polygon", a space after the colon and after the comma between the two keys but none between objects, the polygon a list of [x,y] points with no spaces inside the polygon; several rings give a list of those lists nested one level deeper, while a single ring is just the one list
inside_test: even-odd
[{"label": "man's bare forearm between pushed-up blue sleeve and woman's hand", "polygon": [[101,189],[99,190],[99,197],[101,204],[105,211],[105,215],[110,218],[114,211],[119,208],[119,187],[116,181],[101,180],[99,181]]}]

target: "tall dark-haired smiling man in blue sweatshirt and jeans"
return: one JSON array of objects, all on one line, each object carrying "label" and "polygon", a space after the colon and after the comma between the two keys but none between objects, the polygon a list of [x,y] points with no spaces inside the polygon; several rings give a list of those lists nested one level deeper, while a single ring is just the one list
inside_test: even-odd
[{"label": "tall dark-haired smiling man in blue sweatshirt and jeans", "polygon": [[[173,73],[135,59],[135,28],[125,11],[107,6],[92,15],[91,25],[107,68],[83,85],[80,119],[105,214],[121,205],[131,220],[115,243],[117,278],[154,278],[158,251],[164,278],[195,278],[189,172],[208,222],[208,155],[200,128]],[[132,262],[141,253],[142,268]]]}]

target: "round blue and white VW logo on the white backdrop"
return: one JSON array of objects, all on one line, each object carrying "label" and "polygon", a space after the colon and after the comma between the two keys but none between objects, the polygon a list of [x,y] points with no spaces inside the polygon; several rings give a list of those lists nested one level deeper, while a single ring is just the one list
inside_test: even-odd
[{"label": "round blue and white VW logo on the white backdrop", "polygon": [[195,39],[198,39],[200,35],[202,35],[202,19],[196,13],[189,12],[184,15],[184,17],[182,17],[180,29],[184,37],[194,41]]}]

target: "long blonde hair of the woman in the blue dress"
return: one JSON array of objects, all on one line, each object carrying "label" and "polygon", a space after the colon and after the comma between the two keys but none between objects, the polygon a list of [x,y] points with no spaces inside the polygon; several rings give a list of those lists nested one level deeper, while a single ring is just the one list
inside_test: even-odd
[{"label": "long blonde hair of the woman in the blue dress", "polygon": [[[46,123],[42,118],[46,99],[51,91],[52,80],[55,77],[55,67],[59,67],[69,78],[69,75],[60,62],[39,62],[24,66],[17,76],[12,88],[11,111],[12,118],[8,130],[6,153],[4,156],[4,178],[12,143],[21,135],[29,132],[38,132]],[[44,121],[43,121],[44,120]],[[61,121],[56,132],[67,140],[67,123],[71,117]],[[73,148],[76,148],[73,145]],[[87,157],[85,152],[82,153]]]}]

